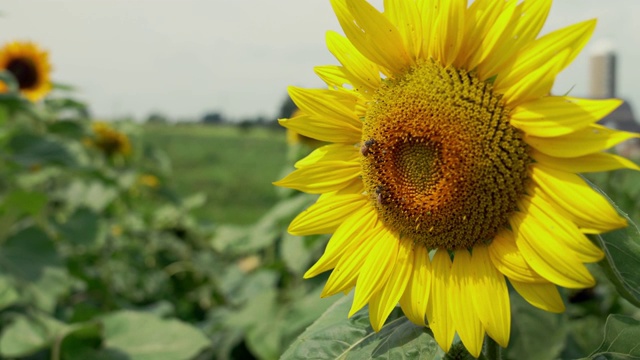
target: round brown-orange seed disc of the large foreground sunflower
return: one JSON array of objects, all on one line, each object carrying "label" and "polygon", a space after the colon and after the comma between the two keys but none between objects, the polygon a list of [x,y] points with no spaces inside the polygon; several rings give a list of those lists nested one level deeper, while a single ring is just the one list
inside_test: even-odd
[{"label": "round brown-orange seed disc of the large foreground sunflower", "polygon": [[380,218],[430,249],[490,242],[517,209],[531,162],[491,84],[432,61],[385,81],[362,143]]}]

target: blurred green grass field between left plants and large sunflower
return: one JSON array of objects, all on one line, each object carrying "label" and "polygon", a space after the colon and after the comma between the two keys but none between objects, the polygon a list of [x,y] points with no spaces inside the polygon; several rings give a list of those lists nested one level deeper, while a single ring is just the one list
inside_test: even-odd
[{"label": "blurred green grass field between left plants and large sunflower", "polygon": [[206,194],[206,204],[194,212],[203,221],[250,224],[278,201],[271,182],[286,164],[284,131],[145,125],[143,137],[169,156],[181,196]]}]

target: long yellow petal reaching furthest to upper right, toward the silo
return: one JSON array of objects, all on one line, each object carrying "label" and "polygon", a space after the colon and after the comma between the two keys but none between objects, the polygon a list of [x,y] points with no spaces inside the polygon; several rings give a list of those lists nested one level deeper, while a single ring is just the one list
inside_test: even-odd
[{"label": "long yellow petal reaching furthest to upper right, toward the silo", "polygon": [[[516,86],[535,69],[546,66],[550,62],[559,62],[554,67],[554,76],[562,71],[580,53],[595,29],[596,21],[588,20],[554,31],[531,42],[524,48],[511,64],[500,70],[496,79],[495,90]],[[568,52],[566,56],[558,54]]]}]

